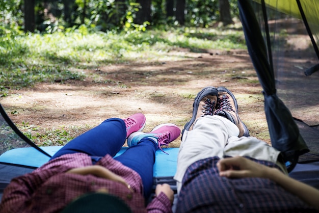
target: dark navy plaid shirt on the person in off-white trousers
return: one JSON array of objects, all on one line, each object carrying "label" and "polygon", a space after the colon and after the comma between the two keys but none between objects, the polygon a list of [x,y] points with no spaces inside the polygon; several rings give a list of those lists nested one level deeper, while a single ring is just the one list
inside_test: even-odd
[{"label": "dark navy plaid shirt on the person in off-white trousers", "polygon": [[218,161],[218,157],[210,157],[188,168],[176,212],[317,212],[269,179],[220,177]]}]

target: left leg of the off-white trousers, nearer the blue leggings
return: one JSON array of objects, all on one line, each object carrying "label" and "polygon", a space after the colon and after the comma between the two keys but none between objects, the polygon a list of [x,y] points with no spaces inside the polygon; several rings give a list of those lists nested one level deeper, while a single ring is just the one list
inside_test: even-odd
[{"label": "left leg of the off-white trousers, nearer the blue leggings", "polygon": [[177,170],[174,179],[179,193],[181,181],[187,168],[208,157],[224,156],[228,138],[238,136],[238,127],[221,116],[204,116],[196,120],[193,130],[184,131],[177,157]]}]

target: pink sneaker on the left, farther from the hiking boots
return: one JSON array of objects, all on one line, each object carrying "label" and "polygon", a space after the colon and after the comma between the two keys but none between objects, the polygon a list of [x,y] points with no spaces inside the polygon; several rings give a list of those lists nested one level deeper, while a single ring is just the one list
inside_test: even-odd
[{"label": "pink sneaker on the left, farther from the hiking boots", "polygon": [[123,120],[126,126],[126,138],[133,132],[142,131],[146,124],[145,115],[142,113],[131,115]]}]

